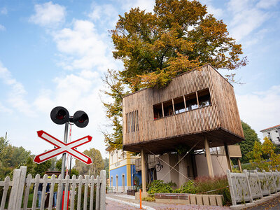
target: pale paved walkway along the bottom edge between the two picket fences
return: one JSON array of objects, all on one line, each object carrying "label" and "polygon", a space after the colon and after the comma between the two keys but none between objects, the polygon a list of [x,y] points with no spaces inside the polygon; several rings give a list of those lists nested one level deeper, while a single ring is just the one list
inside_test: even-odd
[{"label": "pale paved walkway along the bottom edge between the two picket fences", "polygon": [[[229,207],[207,207],[197,205],[183,205],[183,204],[162,204],[155,202],[142,202],[143,209],[146,210],[173,210],[173,209],[201,209],[201,210],[224,210],[230,209]],[[134,200],[134,196],[125,194],[109,193],[106,194],[106,209],[119,210],[119,209],[139,209],[139,202]]]}]

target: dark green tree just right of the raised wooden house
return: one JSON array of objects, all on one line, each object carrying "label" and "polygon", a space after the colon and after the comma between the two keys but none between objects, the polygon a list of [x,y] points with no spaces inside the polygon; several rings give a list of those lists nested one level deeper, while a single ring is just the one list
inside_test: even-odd
[{"label": "dark green tree just right of the raised wooden house", "polygon": [[255,132],[255,130],[251,128],[250,125],[244,123],[243,121],[241,121],[241,125],[244,132],[245,141],[241,141],[238,144],[240,145],[241,154],[242,154],[242,158],[240,161],[242,163],[245,163],[245,162],[249,162],[248,156],[246,156],[247,153],[253,151],[253,146],[255,144],[255,141],[258,141],[258,143],[260,143],[260,139],[258,139],[258,134]]}]

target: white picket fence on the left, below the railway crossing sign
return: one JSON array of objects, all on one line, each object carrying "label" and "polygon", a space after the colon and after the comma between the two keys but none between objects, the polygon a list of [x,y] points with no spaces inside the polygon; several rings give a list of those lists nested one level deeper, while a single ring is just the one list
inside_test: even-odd
[{"label": "white picket fence on the left, below the railway crossing sign", "polygon": [[[0,210],[5,209],[6,202],[8,202],[8,210],[18,210],[18,209],[38,209],[36,207],[37,202],[37,193],[39,183],[43,183],[43,190],[45,192],[47,184],[50,183],[50,199],[48,202],[48,210],[53,209],[52,207],[52,197],[54,193],[55,184],[58,184],[57,190],[57,207],[56,209],[64,209],[73,210],[74,203],[77,202],[76,209],[81,209],[81,197],[83,193],[83,210],[90,209],[93,210],[94,207],[94,186],[96,186],[96,201],[95,201],[95,209],[104,210],[106,209],[106,171],[102,170],[100,172],[100,176],[97,176],[94,179],[94,176],[79,176],[76,179],[74,175],[72,179],[69,179],[69,175],[62,179],[62,176],[59,175],[58,179],[55,178],[55,175],[52,175],[50,179],[48,179],[48,175],[44,175],[43,179],[40,179],[40,175],[37,174],[34,179],[32,179],[31,174],[28,174],[26,178],[27,167],[20,167],[20,169],[15,169],[13,171],[13,181],[10,181],[10,177],[6,177],[5,181],[0,181],[0,187],[3,188],[3,195],[1,198],[1,206]],[[32,200],[32,207],[27,208],[28,198],[29,198],[29,190],[31,188],[31,184],[34,184],[34,195]],[[82,186],[84,186],[82,188]],[[87,186],[87,187],[85,187]],[[9,199],[7,201],[8,189],[10,189]],[[64,189],[64,202],[62,202],[62,193]],[[84,190],[83,190],[84,189]],[[83,192],[82,192],[83,190]],[[67,208],[67,200],[68,194],[70,191],[69,197],[69,207]],[[78,191],[78,195],[76,195]],[[90,195],[90,205],[87,206],[87,196],[88,193]],[[76,196],[75,196],[76,195]],[[45,198],[46,194],[42,193],[41,196],[41,207],[40,209],[45,209]],[[63,207],[62,207],[63,203]]]}]

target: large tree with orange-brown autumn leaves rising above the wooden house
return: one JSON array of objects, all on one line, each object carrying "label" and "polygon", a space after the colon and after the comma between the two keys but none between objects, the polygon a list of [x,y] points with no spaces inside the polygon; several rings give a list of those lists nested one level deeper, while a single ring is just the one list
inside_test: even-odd
[{"label": "large tree with orange-brown autumn leaves rising above the wooden house", "polygon": [[[132,8],[119,16],[116,29],[111,30],[113,57],[124,64],[113,76],[109,71],[106,78],[113,80],[105,79],[110,89],[106,94],[113,98],[111,104],[104,104],[113,121],[113,133],[106,133],[105,140],[113,148],[121,148],[123,141],[121,99],[125,94],[164,87],[175,76],[207,63],[229,70],[247,63],[223,20],[207,14],[207,6],[199,1],[155,0],[153,11]],[[234,81],[234,74],[228,78]]]}]

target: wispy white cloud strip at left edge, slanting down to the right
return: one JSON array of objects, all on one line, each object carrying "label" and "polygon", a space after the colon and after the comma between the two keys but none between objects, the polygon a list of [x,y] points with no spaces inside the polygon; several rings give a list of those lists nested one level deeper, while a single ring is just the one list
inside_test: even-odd
[{"label": "wispy white cloud strip at left edge, slanting down to the right", "polygon": [[17,109],[21,113],[25,113],[28,116],[34,116],[34,111],[31,110],[31,106],[25,100],[25,87],[22,83],[19,83],[13,76],[10,71],[3,66],[0,62],[0,79],[4,84],[10,86],[10,92],[8,92],[8,103],[11,107]]}]

